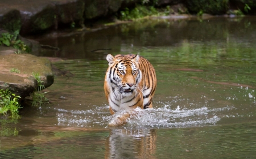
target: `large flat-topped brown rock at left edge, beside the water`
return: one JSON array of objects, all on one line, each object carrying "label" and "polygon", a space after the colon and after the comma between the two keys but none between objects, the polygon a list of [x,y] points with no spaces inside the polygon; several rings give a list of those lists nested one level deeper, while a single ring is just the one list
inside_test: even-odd
[{"label": "large flat-topped brown rock at left edge, beside the water", "polygon": [[[12,68],[20,72],[10,72]],[[31,54],[0,55],[0,89],[9,88],[22,98],[30,96],[37,85],[32,72],[40,75],[45,88],[53,84],[54,75],[48,59]]]}]

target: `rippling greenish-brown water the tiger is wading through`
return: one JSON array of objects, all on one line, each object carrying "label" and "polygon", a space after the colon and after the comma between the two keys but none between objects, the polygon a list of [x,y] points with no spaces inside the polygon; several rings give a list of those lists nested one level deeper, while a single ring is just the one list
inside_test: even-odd
[{"label": "rippling greenish-brown water the tiger is wading through", "polygon": [[[1,123],[0,158],[255,158],[256,18],[153,19],[40,38],[67,60],[46,89],[51,105]],[[139,54],[155,67],[154,109],[125,126],[103,84],[107,54]]]}]

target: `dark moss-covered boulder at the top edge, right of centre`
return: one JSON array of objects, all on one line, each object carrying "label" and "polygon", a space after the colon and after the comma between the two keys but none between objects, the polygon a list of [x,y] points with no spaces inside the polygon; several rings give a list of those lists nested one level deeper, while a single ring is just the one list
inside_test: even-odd
[{"label": "dark moss-covered boulder at the top edge, right of centre", "polygon": [[229,8],[228,0],[194,0],[185,2],[188,11],[192,14],[204,12],[207,14],[221,15],[226,14]]}]

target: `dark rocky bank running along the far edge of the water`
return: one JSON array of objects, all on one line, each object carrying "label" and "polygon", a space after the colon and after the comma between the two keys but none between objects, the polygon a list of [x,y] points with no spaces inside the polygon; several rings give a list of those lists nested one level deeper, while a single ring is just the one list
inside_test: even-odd
[{"label": "dark rocky bank running along the far edge of the water", "polygon": [[187,8],[188,14],[204,12],[212,15],[227,14],[230,10],[255,14],[256,8],[256,0],[0,0],[0,28],[10,32],[19,30],[21,35],[28,35],[63,25],[84,27],[92,20],[113,16],[136,4],[180,5]]}]

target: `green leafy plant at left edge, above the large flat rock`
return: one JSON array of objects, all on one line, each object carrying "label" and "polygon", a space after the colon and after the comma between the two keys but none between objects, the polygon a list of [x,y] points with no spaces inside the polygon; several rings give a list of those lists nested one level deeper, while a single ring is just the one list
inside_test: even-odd
[{"label": "green leafy plant at left edge, above the large flat rock", "polygon": [[28,47],[23,41],[18,39],[19,31],[15,31],[13,34],[2,33],[0,36],[0,45],[12,46],[15,49],[28,51]]}]

